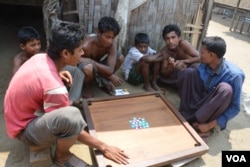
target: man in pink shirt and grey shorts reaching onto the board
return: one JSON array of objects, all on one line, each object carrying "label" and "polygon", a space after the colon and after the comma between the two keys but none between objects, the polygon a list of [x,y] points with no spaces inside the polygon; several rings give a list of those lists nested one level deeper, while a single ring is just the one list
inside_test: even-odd
[{"label": "man in pink shirt and grey shorts reaching onto the board", "polygon": [[4,99],[7,134],[31,147],[45,147],[56,142],[54,158],[59,166],[86,165],[70,152],[76,140],[100,150],[119,164],[127,164],[128,157],[122,150],[84,131],[86,123],[80,110],[70,106],[62,79],[70,84],[72,77],[69,72],[61,70],[66,65],[79,63],[84,54],[82,44],[83,33],[79,27],[56,25],[47,54],[37,54],[19,68]]}]

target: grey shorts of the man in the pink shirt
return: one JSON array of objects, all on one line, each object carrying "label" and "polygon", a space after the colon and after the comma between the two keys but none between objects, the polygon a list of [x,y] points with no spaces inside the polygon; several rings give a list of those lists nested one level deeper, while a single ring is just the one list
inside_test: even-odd
[{"label": "grey shorts of the man in the pink shirt", "polygon": [[80,110],[67,106],[38,116],[17,138],[31,146],[50,145],[57,138],[66,139],[79,135],[86,126]]}]

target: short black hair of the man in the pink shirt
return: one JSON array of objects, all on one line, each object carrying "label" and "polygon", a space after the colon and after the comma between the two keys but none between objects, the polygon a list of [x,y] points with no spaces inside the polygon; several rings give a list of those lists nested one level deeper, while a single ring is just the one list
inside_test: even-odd
[{"label": "short black hair of the man in the pink shirt", "polygon": [[84,39],[84,32],[74,23],[57,23],[52,28],[49,38],[48,55],[53,59],[60,58],[60,52],[67,49],[74,53]]}]

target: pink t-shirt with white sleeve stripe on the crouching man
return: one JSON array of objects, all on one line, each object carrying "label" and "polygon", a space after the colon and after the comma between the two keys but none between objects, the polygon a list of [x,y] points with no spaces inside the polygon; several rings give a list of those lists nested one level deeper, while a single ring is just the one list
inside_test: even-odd
[{"label": "pink t-shirt with white sleeve stripe on the crouching man", "polygon": [[14,74],[4,99],[7,134],[16,137],[41,112],[70,104],[53,60],[45,53],[34,55]]}]

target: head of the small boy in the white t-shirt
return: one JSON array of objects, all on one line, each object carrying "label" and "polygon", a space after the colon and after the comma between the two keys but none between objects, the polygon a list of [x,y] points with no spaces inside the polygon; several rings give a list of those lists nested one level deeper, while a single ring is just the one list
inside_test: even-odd
[{"label": "head of the small boy in the white t-shirt", "polygon": [[145,33],[137,33],[134,39],[135,47],[143,54],[147,53],[149,46],[149,37]]}]

